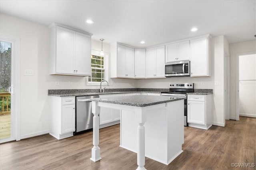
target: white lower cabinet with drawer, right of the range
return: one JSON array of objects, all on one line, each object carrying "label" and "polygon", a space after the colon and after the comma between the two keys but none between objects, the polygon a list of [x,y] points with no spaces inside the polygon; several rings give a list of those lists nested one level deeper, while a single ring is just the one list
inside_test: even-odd
[{"label": "white lower cabinet with drawer, right of the range", "polygon": [[212,126],[212,95],[188,94],[188,126],[209,129]]}]

